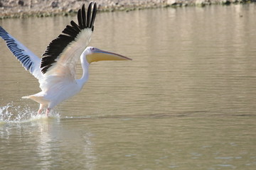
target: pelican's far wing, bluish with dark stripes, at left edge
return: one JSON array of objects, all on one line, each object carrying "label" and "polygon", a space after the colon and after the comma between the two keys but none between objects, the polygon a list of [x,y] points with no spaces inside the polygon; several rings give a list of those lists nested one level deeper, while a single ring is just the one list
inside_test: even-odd
[{"label": "pelican's far wing, bluish with dark stripes, at left edge", "polygon": [[11,50],[14,56],[21,62],[22,66],[31,72],[36,79],[41,79],[40,61],[27,47],[18,42],[9,33],[0,26],[0,37],[6,42],[7,47]]}]

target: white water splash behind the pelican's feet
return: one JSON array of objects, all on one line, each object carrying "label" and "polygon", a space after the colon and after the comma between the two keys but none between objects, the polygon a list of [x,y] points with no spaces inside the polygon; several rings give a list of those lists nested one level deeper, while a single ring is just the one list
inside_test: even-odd
[{"label": "white water splash behind the pelican's feet", "polygon": [[[59,117],[59,113],[50,114],[53,117]],[[0,106],[0,123],[26,123],[33,120],[48,118],[45,114],[37,115],[37,111],[28,105],[15,106],[13,102],[6,106]]]}]

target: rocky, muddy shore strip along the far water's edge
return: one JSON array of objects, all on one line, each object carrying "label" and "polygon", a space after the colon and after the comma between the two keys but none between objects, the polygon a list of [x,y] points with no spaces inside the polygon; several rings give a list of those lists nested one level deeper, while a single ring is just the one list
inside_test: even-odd
[{"label": "rocky, muddy shore strip along the far water's edge", "polygon": [[[256,1],[256,0],[252,0]],[[132,11],[143,8],[245,4],[248,0],[96,0],[98,11]],[[90,0],[0,0],[0,19],[72,15]]]}]

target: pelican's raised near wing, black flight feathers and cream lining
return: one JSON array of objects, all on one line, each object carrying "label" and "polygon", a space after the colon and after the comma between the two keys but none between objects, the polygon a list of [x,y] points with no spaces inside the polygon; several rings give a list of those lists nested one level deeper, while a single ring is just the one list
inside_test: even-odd
[{"label": "pelican's raised near wing, black flight feathers and cream lining", "polygon": [[71,26],[66,26],[63,34],[50,42],[41,60],[43,74],[75,79],[75,65],[90,42],[96,12],[96,3],[90,2],[87,15],[85,4],[82,5],[78,11],[78,24],[71,21]]}]

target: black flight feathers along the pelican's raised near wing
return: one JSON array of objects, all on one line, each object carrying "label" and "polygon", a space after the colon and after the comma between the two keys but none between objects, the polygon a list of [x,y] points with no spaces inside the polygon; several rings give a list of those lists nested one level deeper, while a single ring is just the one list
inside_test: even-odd
[{"label": "black flight feathers along the pelican's raised near wing", "polygon": [[[93,11],[92,4],[94,4]],[[41,60],[41,72],[43,74],[45,74],[48,69],[53,66],[53,64],[56,62],[56,59],[58,59],[59,55],[63,52],[63,50],[65,50],[65,47],[67,47],[70,42],[75,40],[81,30],[90,28],[93,31],[93,23],[95,21],[96,12],[96,2],[90,2],[86,16],[85,4],[83,4],[82,8],[78,10],[78,24],[74,21],[71,21],[71,26],[66,26],[62,32],[63,34],[60,34],[58,38],[55,38],[52,42],[50,42]]]}]

